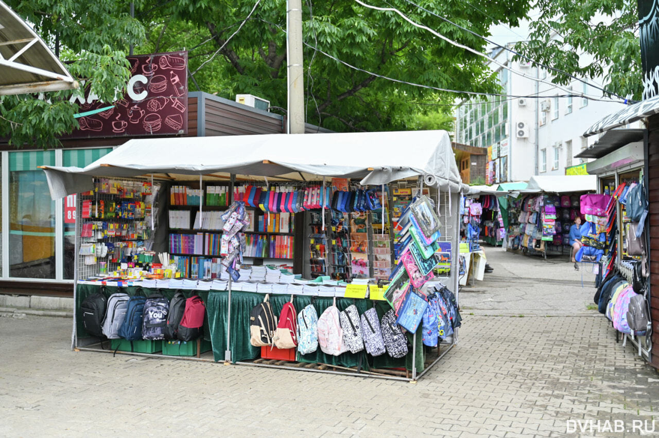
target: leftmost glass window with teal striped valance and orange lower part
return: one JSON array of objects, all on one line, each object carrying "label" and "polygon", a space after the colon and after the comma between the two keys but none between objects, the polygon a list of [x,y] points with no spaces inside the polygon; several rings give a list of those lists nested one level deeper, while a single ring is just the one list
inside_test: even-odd
[{"label": "leftmost glass window with teal striped valance and orange lower part", "polygon": [[55,201],[45,173],[55,151],[9,153],[9,276],[55,278]]}]

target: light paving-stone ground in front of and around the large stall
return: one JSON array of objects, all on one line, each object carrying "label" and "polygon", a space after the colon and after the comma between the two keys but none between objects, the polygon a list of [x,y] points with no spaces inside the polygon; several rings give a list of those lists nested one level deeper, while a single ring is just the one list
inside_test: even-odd
[{"label": "light paving-stone ground in front of and around the large stall", "polygon": [[76,353],[66,318],[0,317],[0,435],[621,437],[644,420],[659,435],[659,374],[599,314],[471,313],[416,385]]}]

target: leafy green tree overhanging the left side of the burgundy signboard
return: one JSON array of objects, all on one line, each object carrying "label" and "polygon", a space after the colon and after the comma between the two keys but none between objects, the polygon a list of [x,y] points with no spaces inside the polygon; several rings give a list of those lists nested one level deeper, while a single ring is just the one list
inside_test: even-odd
[{"label": "leafy green tree overhanging the left side of the burgundy signboard", "polygon": [[39,36],[67,62],[82,85],[74,91],[5,96],[0,100],[0,135],[13,145],[57,145],[57,135],[77,126],[72,95],[90,90],[102,101],[113,101],[130,77],[126,59],[130,43],[144,39],[144,27],[130,18],[127,2],[119,0],[6,1],[20,17],[34,25]]}]

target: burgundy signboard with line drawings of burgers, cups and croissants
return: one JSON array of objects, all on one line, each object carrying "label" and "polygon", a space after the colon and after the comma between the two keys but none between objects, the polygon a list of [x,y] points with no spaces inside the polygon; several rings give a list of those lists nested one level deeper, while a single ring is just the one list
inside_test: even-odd
[{"label": "burgundy signboard with line drawings of burgers, cups and croissants", "polygon": [[187,134],[188,53],[135,55],[128,60],[131,76],[122,99],[72,99],[81,116],[80,129],[69,138]]}]

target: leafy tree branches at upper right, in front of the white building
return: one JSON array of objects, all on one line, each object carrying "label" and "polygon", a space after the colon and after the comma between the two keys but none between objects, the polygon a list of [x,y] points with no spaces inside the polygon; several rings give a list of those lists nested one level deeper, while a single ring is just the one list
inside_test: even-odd
[{"label": "leafy tree branches at upper right, in front of the white building", "polygon": [[[635,0],[538,0],[536,7],[540,16],[530,22],[529,41],[517,43],[517,50],[579,78],[603,77],[608,91],[641,99]],[[556,84],[572,81],[565,74],[549,73]]]}]

